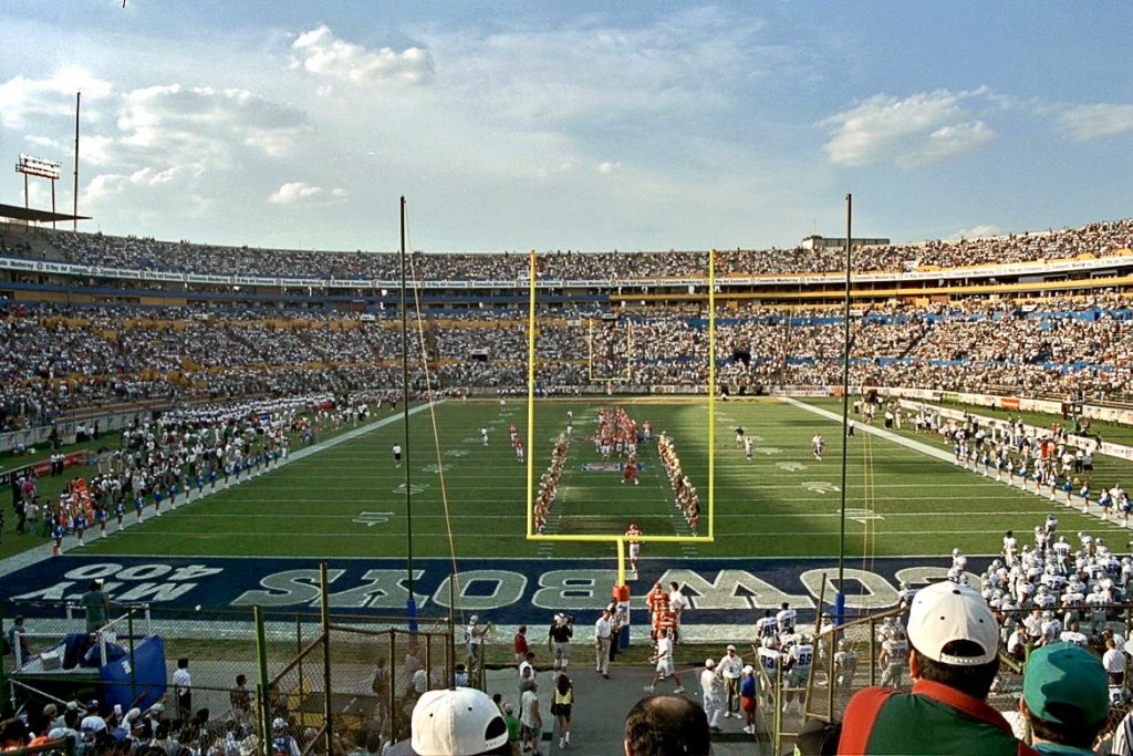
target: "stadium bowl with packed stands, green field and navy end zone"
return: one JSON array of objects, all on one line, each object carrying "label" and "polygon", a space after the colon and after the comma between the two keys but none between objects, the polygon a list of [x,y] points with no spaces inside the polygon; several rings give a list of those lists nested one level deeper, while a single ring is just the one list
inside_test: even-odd
[{"label": "stadium bowl with packed stands, green field and navy end zone", "polygon": [[[171,617],[202,604],[309,611],[326,561],[330,609],[377,621],[406,609],[408,558],[423,617],[451,611],[462,628],[478,613],[505,640],[554,612],[593,622],[627,577],[616,545],[633,523],[645,535],[631,632],[647,637],[637,602],[648,588],[676,581],[691,604],[688,642],[718,643],[749,639],[763,610],[783,602],[813,627],[834,610],[840,568],[858,617],[896,608],[902,585],[947,577],[954,549],[981,584],[1005,532],[1034,547],[1032,530],[1046,534],[1051,515],[1075,549],[1074,534],[1114,554],[1128,538],[1124,494],[1099,503],[1131,457],[1127,220],[855,249],[844,478],[838,248],[713,253],[712,318],[707,252],[412,255],[400,405],[394,255],[12,223],[2,245],[16,379],[2,440],[18,465],[6,483],[23,498],[24,470],[60,464],[34,478],[26,523],[6,528],[8,563],[19,564],[3,581],[9,614],[49,621],[56,610],[35,604],[77,600],[91,578]],[[256,274],[225,272],[233,255]],[[627,278],[627,267],[648,273]],[[600,449],[614,410],[641,444],[630,489],[629,448]],[[658,436],[705,492],[699,532]],[[554,494],[533,512],[527,461],[542,473],[560,444]],[[223,450],[219,462],[204,460],[205,447]],[[96,511],[76,526],[87,517],[79,501]],[[54,557],[52,520],[66,521]],[[1114,562],[1124,587],[1133,570]]]}]

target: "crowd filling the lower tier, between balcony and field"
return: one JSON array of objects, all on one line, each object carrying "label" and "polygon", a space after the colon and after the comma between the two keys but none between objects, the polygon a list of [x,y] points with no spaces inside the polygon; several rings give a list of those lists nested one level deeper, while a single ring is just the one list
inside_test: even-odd
[{"label": "crowd filling the lower tier, between balcony and field", "polygon": [[[853,385],[1100,400],[1133,393],[1133,309],[1111,291],[1023,305],[872,306],[853,314],[850,331]],[[400,318],[389,313],[8,303],[0,342],[2,431],[50,424],[77,408],[401,385]],[[837,309],[739,308],[716,318],[716,377],[730,390],[840,385],[843,342]],[[519,390],[527,346],[521,309],[415,317],[412,391]],[[599,379],[632,390],[702,390],[707,355],[706,311],[657,307],[615,320],[546,311],[536,379],[550,392]]]}]

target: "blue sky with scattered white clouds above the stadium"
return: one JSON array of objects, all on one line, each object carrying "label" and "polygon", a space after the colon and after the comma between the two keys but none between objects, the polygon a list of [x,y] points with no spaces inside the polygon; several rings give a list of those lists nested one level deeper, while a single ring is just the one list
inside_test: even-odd
[{"label": "blue sky with scattered white clouds above the stadium", "polygon": [[[794,246],[1133,214],[1131,3],[25,0],[0,156],[85,230],[426,250]],[[45,181],[32,204],[50,206]],[[23,203],[15,172],[0,202]]]}]

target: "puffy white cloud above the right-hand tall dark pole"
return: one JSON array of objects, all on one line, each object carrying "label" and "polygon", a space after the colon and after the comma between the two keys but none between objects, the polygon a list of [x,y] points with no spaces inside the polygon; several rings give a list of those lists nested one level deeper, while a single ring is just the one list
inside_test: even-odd
[{"label": "puffy white cloud above the right-hand tall dark pole", "polygon": [[900,168],[929,165],[971,152],[995,137],[965,104],[986,100],[988,90],[914,94],[904,100],[877,94],[830,116],[825,150],[832,163],[868,165],[892,161]]}]

